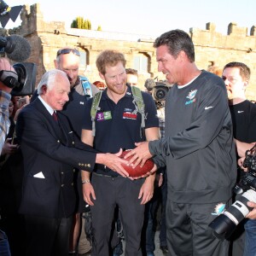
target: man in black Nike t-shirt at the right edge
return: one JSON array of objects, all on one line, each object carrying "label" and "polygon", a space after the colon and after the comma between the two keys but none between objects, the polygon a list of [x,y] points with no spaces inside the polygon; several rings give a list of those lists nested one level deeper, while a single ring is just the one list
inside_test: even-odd
[{"label": "man in black Nike t-shirt at the right edge", "polygon": [[[222,78],[228,91],[237,156],[243,157],[246,150],[253,148],[256,142],[256,105],[249,102],[245,95],[250,69],[244,63],[230,62],[225,65]],[[234,239],[239,237],[233,241],[233,256],[256,255],[256,220],[245,219],[244,222],[245,232],[240,225],[241,229],[237,229],[234,234]]]}]

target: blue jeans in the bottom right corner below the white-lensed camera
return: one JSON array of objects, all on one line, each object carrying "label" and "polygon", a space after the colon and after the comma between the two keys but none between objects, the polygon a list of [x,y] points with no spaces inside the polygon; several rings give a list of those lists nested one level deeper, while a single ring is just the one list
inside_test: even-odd
[{"label": "blue jeans in the bottom right corner below the white-lensed camera", "polygon": [[245,229],[245,245],[243,256],[255,256],[256,255],[256,220],[248,219],[244,225]]}]

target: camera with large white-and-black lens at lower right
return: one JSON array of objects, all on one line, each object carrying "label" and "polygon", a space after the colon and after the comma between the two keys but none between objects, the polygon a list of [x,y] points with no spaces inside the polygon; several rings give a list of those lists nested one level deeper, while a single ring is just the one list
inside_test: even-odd
[{"label": "camera with large white-and-black lens at lower right", "polygon": [[234,192],[241,196],[209,224],[213,236],[219,240],[229,238],[241,220],[253,210],[247,206],[247,201],[256,202],[256,144],[246,151],[243,166],[247,168],[247,173],[241,177],[234,189]]}]

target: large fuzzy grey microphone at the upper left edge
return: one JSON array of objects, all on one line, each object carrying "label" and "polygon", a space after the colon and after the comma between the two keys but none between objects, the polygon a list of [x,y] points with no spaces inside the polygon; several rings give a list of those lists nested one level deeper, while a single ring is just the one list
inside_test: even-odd
[{"label": "large fuzzy grey microphone at the upper left edge", "polygon": [[7,38],[0,37],[0,50],[6,52],[12,61],[26,61],[31,54],[31,46],[19,35],[11,35]]}]

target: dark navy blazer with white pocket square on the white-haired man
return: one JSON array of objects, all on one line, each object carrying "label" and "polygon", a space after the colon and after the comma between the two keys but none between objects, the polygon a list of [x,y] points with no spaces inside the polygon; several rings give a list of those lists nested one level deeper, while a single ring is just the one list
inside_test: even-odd
[{"label": "dark navy blazer with white pocket square on the white-haired man", "polygon": [[61,128],[38,98],[19,114],[16,134],[25,169],[20,213],[70,216],[76,202],[73,169],[94,168],[96,150],[74,136],[66,116],[58,116]]}]

